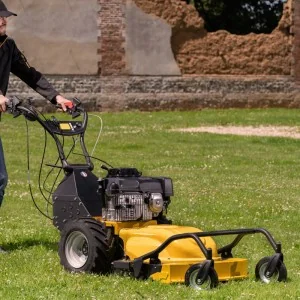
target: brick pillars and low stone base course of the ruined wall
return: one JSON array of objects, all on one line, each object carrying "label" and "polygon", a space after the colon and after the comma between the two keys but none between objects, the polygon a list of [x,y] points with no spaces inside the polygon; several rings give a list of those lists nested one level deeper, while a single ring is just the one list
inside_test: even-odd
[{"label": "brick pillars and low stone base course of the ruined wall", "polygon": [[[69,98],[79,97],[89,110],[300,108],[300,1],[293,1],[293,38],[290,39],[293,42],[293,59],[290,74],[247,76],[129,76],[125,60],[125,9],[127,1],[132,0],[98,1],[99,74],[48,76],[57,90]],[[43,109],[51,107],[45,106],[41,97],[37,97],[13,76],[9,91],[11,95],[22,98],[34,97]]]}]

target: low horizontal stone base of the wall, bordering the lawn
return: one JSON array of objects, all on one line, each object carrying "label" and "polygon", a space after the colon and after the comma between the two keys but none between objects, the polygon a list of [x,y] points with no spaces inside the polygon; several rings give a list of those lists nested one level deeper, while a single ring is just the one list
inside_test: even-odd
[{"label": "low horizontal stone base of the wall, bordering the lawn", "polygon": [[[66,97],[78,97],[91,111],[190,110],[203,108],[300,108],[299,89],[290,76],[48,76]],[[17,78],[10,95],[45,100]]]}]

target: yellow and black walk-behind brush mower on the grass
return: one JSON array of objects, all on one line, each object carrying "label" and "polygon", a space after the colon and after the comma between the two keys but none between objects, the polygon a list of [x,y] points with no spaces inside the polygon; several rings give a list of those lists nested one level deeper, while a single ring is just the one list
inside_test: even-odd
[{"label": "yellow and black walk-behind brush mower on the grass", "polygon": [[[256,278],[269,283],[285,281],[281,244],[262,228],[201,231],[172,225],[166,211],[173,196],[172,180],[144,177],[135,168],[103,165],[104,178],[92,173],[93,163],[84,142],[88,114],[78,99],[69,109],[70,121],[47,119],[31,105],[13,98],[8,106],[14,116],[38,123],[54,139],[64,178],[52,194],[53,224],[60,230],[60,262],[71,272],[116,272],[137,279],[185,283],[210,289],[219,281],[248,277],[248,260],[235,258],[232,250],[246,235],[262,234],[275,254],[256,265]],[[73,120],[80,117],[80,121]],[[71,164],[62,139],[79,138],[85,163]],[[233,236],[217,247],[213,237]]]}]

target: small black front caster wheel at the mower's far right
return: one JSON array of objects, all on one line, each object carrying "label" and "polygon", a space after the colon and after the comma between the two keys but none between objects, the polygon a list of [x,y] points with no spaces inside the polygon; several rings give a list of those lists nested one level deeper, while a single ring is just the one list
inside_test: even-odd
[{"label": "small black front caster wheel at the mower's far right", "polygon": [[264,283],[270,283],[275,281],[286,281],[287,270],[282,261],[279,261],[274,274],[271,277],[266,276],[265,271],[267,269],[268,263],[271,257],[262,258],[255,267],[256,279],[261,280]]}]

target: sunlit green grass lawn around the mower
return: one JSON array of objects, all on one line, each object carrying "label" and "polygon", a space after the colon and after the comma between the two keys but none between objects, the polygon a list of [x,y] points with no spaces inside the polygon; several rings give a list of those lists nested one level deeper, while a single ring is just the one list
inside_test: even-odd
[{"label": "sunlit green grass lawn around the mower", "polygon": [[[1,299],[300,299],[300,140],[170,131],[200,125],[300,126],[299,110],[128,112],[101,117],[104,128],[95,156],[116,167],[137,167],[144,175],[171,177],[175,195],[169,217],[175,224],[203,230],[268,229],[282,242],[288,281],[255,281],[256,263],[272,254],[259,235],[246,237],[234,250],[235,256],[249,259],[249,279],[211,291],[116,275],[67,273],[57,254],[59,233],[36,211],[28,191],[24,119],[5,115],[0,130],[10,179],[0,210],[0,245],[9,253],[0,254]],[[32,122],[29,129],[33,190],[45,210],[35,182],[43,131]],[[98,119],[91,117],[89,149],[98,129]],[[53,144],[47,155],[46,162],[55,162]],[[104,176],[100,163],[95,164],[95,173]]]}]

